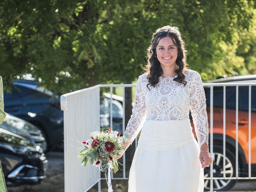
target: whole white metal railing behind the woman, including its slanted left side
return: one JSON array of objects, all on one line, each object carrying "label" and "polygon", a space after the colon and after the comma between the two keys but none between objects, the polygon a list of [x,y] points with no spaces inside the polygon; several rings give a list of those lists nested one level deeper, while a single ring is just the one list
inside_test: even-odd
[{"label": "whole white metal railing behind the woman, including its slanted left side", "polygon": [[[62,110],[64,110],[64,162],[65,162],[65,191],[71,192],[71,191],[88,191],[90,187],[92,187],[94,184],[98,182],[98,191],[101,191],[101,185],[100,180],[105,180],[105,178],[100,178],[100,172],[98,168],[93,166],[87,166],[87,168],[83,168],[80,166],[80,160],[76,158],[78,152],[74,150],[74,146],[77,147],[77,143],[74,142],[74,140],[79,139],[77,136],[80,136],[80,139],[82,138],[89,138],[89,133],[92,131],[95,131],[95,127],[100,124],[99,120],[99,101],[100,101],[100,87],[104,88],[110,88],[110,126],[113,127],[113,118],[112,118],[112,92],[114,87],[122,87],[123,88],[123,96],[125,95],[125,89],[126,87],[135,87],[136,84],[112,84],[112,85],[97,85],[90,88],[86,88],[80,91],[72,92],[69,94],[65,94],[61,97],[61,106]],[[256,83],[205,83],[204,87],[208,88],[210,90],[210,122],[209,122],[209,146],[210,146],[210,154],[213,157],[216,153],[213,150],[214,147],[214,131],[213,131],[213,124],[214,124],[214,88],[219,88],[222,90],[221,95],[222,98],[222,106],[223,108],[223,140],[222,140],[222,146],[223,146],[223,170],[221,174],[223,174],[223,177],[214,177],[214,168],[213,164],[210,165],[210,176],[205,176],[205,187],[210,192],[213,192],[214,186],[216,189],[221,184],[226,184],[226,180],[238,180],[238,179],[256,179],[256,177],[252,177],[252,168],[251,168],[251,159],[252,159],[252,110],[256,112],[256,108],[252,108],[252,99],[255,101],[256,98],[252,98],[252,86],[256,86]],[[226,174],[230,174],[229,171],[226,171],[227,165],[226,165],[226,150],[229,150],[226,146],[226,89],[228,88],[234,88],[235,90],[235,176],[232,177],[226,177]],[[248,87],[248,146],[247,148],[247,160],[248,160],[248,176],[240,176],[239,174],[239,152],[238,148],[240,147],[238,142],[238,126],[239,126],[239,118],[238,118],[238,112],[239,112],[239,100],[238,100],[238,90],[240,87]],[[123,117],[125,116],[125,97],[123,97]],[[93,110],[93,111],[92,111]],[[244,109],[243,109],[244,111]],[[209,113],[208,113],[209,116]],[[91,123],[89,123],[89,122]],[[254,125],[255,126],[255,125]],[[122,131],[125,132],[125,120],[123,118],[122,120]],[[255,132],[254,132],[255,134]],[[255,135],[254,135],[255,137]],[[254,141],[255,142],[255,141]],[[76,143],[76,144],[75,144]],[[135,139],[135,148],[138,144],[138,138]],[[255,146],[256,143],[253,143]],[[71,146],[72,145],[72,146]],[[134,145],[133,145],[134,146]],[[131,146],[130,146],[131,147]],[[256,152],[256,151],[254,151]],[[254,155],[255,156],[255,155]],[[76,158],[76,159],[75,159]],[[122,177],[114,177],[113,172],[111,171],[111,177],[112,179],[124,179],[127,180],[126,177],[126,153],[122,156],[123,160],[123,174]],[[218,158],[217,160],[218,161]],[[256,161],[254,159],[254,161]],[[256,164],[256,162],[253,162]],[[247,164],[247,162],[246,162]],[[90,169],[90,173],[89,172]],[[72,171],[71,171],[72,170]],[[79,174],[78,174],[79,172]],[[93,174],[91,174],[93,173]],[[243,175],[245,175],[243,173]],[[76,180],[77,178],[82,177],[81,180]],[[210,180],[210,184],[208,183],[208,180]],[[75,182],[75,183],[72,183]],[[79,187],[76,188],[77,190],[74,190],[74,185],[78,185]],[[207,187],[209,186],[209,187]]]}]

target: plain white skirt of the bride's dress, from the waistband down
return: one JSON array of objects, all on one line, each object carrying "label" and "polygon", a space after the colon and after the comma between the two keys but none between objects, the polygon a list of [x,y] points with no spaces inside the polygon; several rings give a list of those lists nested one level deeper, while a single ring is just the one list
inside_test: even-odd
[{"label": "plain white skirt of the bride's dress, from the waistband down", "polygon": [[199,153],[189,119],[146,121],[132,160],[128,192],[203,192]]}]

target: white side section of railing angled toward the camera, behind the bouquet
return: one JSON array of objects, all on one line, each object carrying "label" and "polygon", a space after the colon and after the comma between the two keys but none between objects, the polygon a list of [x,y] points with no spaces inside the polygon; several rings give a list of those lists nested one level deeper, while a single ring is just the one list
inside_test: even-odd
[{"label": "white side section of railing angled toward the camera, behind the bouquet", "polygon": [[[81,166],[77,158],[80,142],[100,127],[100,86],[64,94],[60,98],[64,111],[64,189],[66,192],[88,191],[97,182],[100,172],[95,166]],[[100,188],[100,186],[99,186]]]}]

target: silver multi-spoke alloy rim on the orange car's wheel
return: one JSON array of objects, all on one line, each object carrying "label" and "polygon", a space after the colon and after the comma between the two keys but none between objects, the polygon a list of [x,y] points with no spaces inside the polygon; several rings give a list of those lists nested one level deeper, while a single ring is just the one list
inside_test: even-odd
[{"label": "silver multi-spoke alloy rim on the orange car's wheel", "polygon": [[[216,153],[212,155],[213,164],[213,177],[224,177],[223,170],[224,155],[221,153]],[[234,174],[233,166],[231,161],[226,157],[226,178],[232,177]],[[204,168],[204,178],[210,177],[210,166]],[[220,190],[226,187],[230,183],[231,179],[214,179],[213,180],[213,190]],[[204,188],[210,190],[210,180],[204,180]]]}]

